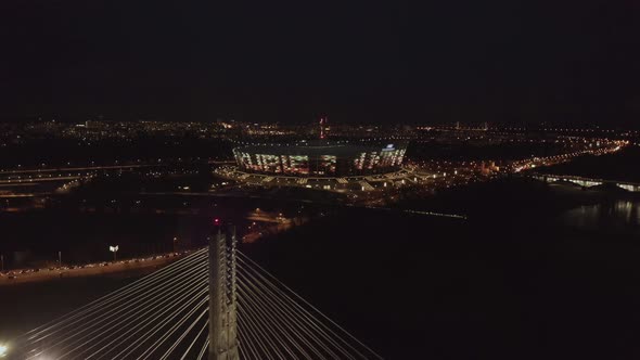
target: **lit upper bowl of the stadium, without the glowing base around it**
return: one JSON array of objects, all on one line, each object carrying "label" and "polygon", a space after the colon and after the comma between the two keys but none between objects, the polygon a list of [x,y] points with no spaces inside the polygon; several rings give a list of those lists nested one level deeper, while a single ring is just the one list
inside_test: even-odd
[{"label": "lit upper bowl of the stadium, without the glowing base around it", "polygon": [[233,155],[242,171],[295,177],[349,177],[398,170],[406,146],[302,142],[292,145],[246,145]]}]

